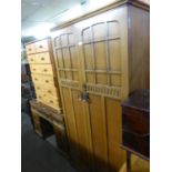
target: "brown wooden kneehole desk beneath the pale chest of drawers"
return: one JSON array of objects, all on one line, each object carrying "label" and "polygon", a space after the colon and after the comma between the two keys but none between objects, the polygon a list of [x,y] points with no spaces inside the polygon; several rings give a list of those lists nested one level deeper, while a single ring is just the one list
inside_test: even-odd
[{"label": "brown wooden kneehole desk beneath the pale chest of drawers", "polygon": [[63,114],[37,100],[31,100],[30,107],[36,133],[42,139],[54,134],[57,148],[68,154],[69,148]]}]

